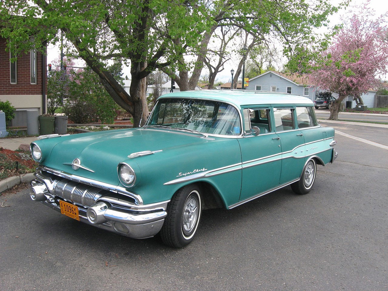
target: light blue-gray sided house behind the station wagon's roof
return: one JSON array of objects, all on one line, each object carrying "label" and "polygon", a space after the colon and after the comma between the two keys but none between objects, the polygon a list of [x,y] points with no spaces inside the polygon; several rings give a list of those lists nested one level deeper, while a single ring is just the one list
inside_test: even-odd
[{"label": "light blue-gray sided house behind the station wagon's roof", "polygon": [[268,71],[250,79],[247,90],[296,94],[314,101],[316,87],[303,76]]}]

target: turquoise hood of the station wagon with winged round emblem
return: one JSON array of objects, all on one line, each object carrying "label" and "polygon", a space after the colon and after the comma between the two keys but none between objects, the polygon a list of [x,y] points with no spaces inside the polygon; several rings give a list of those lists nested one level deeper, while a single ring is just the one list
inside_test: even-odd
[{"label": "turquoise hood of the station wagon with winged round emblem", "polygon": [[[109,184],[116,181],[118,185],[117,165],[128,161],[128,155],[134,152],[162,150],[162,152],[152,154],[152,158],[158,159],[158,156],[171,153],[175,148],[204,144],[209,141],[198,134],[134,128],[43,139],[36,144],[43,151],[42,165]],[[47,151],[50,148],[52,150],[48,154]],[[69,164],[76,158],[80,159],[81,165],[89,170],[83,168],[73,170]],[[129,161],[133,166],[139,168],[137,164],[141,159],[144,158],[139,157],[129,159]]]}]

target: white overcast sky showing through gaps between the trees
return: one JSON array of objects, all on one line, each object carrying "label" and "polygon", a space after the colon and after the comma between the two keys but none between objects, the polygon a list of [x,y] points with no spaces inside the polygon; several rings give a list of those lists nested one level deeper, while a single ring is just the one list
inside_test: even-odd
[{"label": "white overcast sky showing through gaps between the trees", "polygon": [[[337,5],[341,0],[330,0],[330,3],[333,5]],[[350,6],[353,5],[362,5],[365,3],[365,0],[352,0],[350,3]],[[371,9],[374,9],[376,11],[377,15],[383,14],[388,11],[388,0],[371,0],[369,7]],[[330,20],[330,26],[334,26],[336,24],[341,24],[341,19],[343,19],[343,15],[345,15],[349,10],[349,7],[347,9],[341,9],[338,13],[334,14],[333,16],[329,17]],[[360,11],[362,13],[362,11]],[[388,19],[387,19],[388,22]],[[59,57],[59,45],[49,45],[47,48],[47,62],[52,63],[54,59],[57,59]],[[239,59],[237,57],[235,59],[232,59],[228,61],[225,66],[224,70],[217,75],[217,81],[224,81],[228,82],[231,79],[231,74],[230,70],[234,69],[236,71],[237,66],[239,63]],[[82,61],[78,62],[79,66],[84,66]],[[275,64],[275,66],[281,67],[282,66],[282,61],[278,64]],[[279,68],[280,69],[280,68]],[[203,74],[207,73],[208,70],[205,67],[204,70],[202,71]],[[130,77],[130,70],[128,67],[123,68],[123,76],[128,75]],[[388,76],[385,77],[387,79]]]}]

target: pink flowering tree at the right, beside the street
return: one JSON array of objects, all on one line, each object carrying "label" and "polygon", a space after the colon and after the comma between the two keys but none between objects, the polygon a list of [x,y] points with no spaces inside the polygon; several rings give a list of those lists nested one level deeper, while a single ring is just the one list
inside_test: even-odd
[{"label": "pink flowering tree at the right, beside the street", "polygon": [[379,74],[388,72],[387,29],[383,26],[387,14],[374,19],[366,3],[362,12],[346,20],[333,44],[313,64],[309,75],[314,85],[339,94],[330,109],[330,120],[338,120],[342,101],[358,97],[377,87]]}]

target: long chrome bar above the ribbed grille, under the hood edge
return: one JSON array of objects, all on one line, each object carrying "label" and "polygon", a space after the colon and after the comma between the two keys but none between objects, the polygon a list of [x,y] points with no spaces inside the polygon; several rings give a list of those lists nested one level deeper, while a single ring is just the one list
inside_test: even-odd
[{"label": "long chrome bar above the ribbed grille, under the hood edge", "polygon": [[135,199],[135,201],[137,201],[138,205],[143,205],[142,197],[140,197],[139,195],[134,194],[132,192],[126,191],[126,189],[124,187],[107,184],[107,183],[104,183],[104,182],[88,179],[88,178],[85,178],[85,177],[80,177],[80,176],[77,176],[77,175],[66,173],[64,171],[54,170],[54,169],[51,169],[51,168],[46,167],[46,166],[38,167],[36,169],[35,175],[36,174],[39,175],[38,170],[42,170],[42,169],[47,171],[47,172],[49,172],[49,173],[57,175],[59,177],[67,178],[67,179],[75,181],[75,182],[80,182],[82,184],[94,186],[94,187],[97,187],[97,188],[102,188],[102,189],[105,189],[105,190],[108,190],[108,191],[111,191],[111,192],[128,195],[128,196],[132,197],[133,199]]}]

